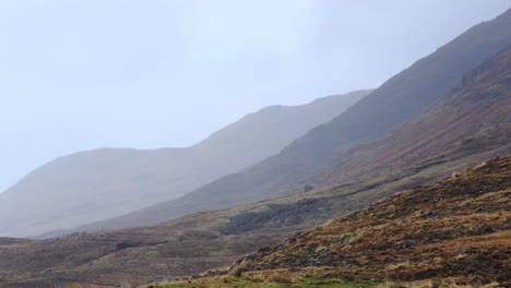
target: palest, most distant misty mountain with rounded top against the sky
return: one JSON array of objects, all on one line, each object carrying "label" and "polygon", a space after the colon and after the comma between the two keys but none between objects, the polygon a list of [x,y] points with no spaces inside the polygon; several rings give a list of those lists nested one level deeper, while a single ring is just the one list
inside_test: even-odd
[{"label": "palest, most distant misty mountain with rounded top against the sky", "polygon": [[61,157],[0,194],[0,236],[70,229],[178,197],[278,153],[368,93],[268,107],[189,148],[107,148]]}]

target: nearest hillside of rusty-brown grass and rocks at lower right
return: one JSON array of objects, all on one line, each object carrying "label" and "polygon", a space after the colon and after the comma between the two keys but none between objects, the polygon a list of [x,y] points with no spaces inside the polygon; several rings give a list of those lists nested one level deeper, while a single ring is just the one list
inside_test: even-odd
[{"label": "nearest hillside of rusty-brown grass and rocks at lower right", "polygon": [[[321,272],[324,284],[372,279],[400,285],[428,285],[428,280],[430,286],[509,287],[510,217],[508,156],[397,193],[274,248],[261,249],[227,271],[205,275],[230,272],[245,275],[248,283],[265,283],[271,281],[265,275],[274,275],[274,271],[281,274],[281,283],[284,278],[292,284]],[[215,279],[199,283],[207,287],[209,281]]]}]

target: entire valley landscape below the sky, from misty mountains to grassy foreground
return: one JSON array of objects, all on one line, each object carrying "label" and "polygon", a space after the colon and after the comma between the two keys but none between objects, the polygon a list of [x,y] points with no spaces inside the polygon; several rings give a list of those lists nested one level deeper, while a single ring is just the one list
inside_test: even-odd
[{"label": "entire valley landscape below the sky, from misty mountains to grassy foreground", "polygon": [[376,89],[0,194],[0,287],[511,287],[511,10]]}]

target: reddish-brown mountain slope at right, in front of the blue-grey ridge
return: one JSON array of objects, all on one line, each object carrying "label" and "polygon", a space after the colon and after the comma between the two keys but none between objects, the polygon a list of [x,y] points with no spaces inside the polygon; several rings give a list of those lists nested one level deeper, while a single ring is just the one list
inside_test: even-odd
[{"label": "reddish-brown mountain slope at right, in front of the blue-grey ridge", "polygon": [[[464,76],[454,92],[387,137],[345,153],[305,183],[371,173],[400,178],[480,153],[511,149],[511,46]],[[511,151],[510,151],[511,152]]]}]

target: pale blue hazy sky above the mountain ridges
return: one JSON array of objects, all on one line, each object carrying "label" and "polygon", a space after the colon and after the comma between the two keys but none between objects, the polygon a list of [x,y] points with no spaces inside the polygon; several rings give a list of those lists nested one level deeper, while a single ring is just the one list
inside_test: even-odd
[{"label": "pale blue hazy sky above the mountain ridges", "polygon": [[511,0],[0,0],[0,191],[56,157],[192,145],[373,88]]}]

